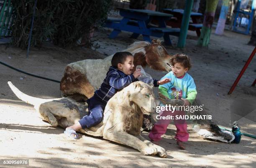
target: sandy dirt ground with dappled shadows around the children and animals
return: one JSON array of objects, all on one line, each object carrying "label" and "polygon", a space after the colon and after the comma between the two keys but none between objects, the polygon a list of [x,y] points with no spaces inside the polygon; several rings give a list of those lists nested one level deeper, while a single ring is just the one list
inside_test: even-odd
[{"label": "sandy dirt ground with dappled shadows around the children and animals", "polygon": [[[188,33],[185,49],[165,46],[169,54],[184,53],[192,59],[189,74],[197,85],[197,99],[210,111],[220,126],[231,128],[231,122],[239,119],[234,114],[234,105],[244,110],[239,126],[244,133],[256,135],[256,109],[246,112],[243,102],[256,104],[256,89],[251,87],[256,77],[254,58],[238,86],[228,95],[245,61],[253,51],[246,45],[249,36],[225,31],[214,35],[212,30],[208,48],[197,47],[195,32]],[[48,45],[41,49],[26,51],[0,45],[0,61],[26,72],[60,80],[65,66],[82,59],[100,59],[123,50],[133,42],[131,33],[122,32],[115,40],[108,39],[110,30],[100,29],[93,40],[100,48],[65,50]],[[177,37],[172,36],[174,46]],[[140,36],[138,40],[142,40]],[[97,67],[95,67],[97,68]],[[154,78],[162,72],[146,69]],[[10,90],[10,80],[24,93],[40,98],[60,97],[59,84],[16,72],[0,65],[0,159],[29,159],[32,167],[256,167],[256,140],[242,136],[241,143],[228,144],[207,141],[198,136],[189,125],[189,141],[186,150],[176,146],[175,126],[170,124],[160,146],[166,148],[167,158],[143,156],[138,151],[102,138],[80,134],[78,140],[67,138],[63,128],[51,127],[36,114],[33,106],[20,101]],[[237,107],[236,106],[236,107]],[[236,116],[234,118],[234,116]],[[148,138],[147,132],[142,133]],[[1,167],[1,166],[0,166]],[[26,166],[24,166],[26,167]]]}]

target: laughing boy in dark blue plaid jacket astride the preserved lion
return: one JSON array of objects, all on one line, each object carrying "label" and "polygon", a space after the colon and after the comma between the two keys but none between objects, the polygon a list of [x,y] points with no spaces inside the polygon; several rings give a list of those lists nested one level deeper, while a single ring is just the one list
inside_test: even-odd
[{"label": "laughing boy in dark blue plaid jacket astride the preserved lion", "polygon": [[[96,90],[94,95],[87,99],[89,115],[84,116],[73,126],[67,127],[64,131],[69,137],[78,138],[76,133],[81,128],[90,128],[99,124],[103,117],[103,112],[108,100],[115,95],[118,90],[123,89],[132,82],[135,82],[141,75],[140,69],[136,70],[133,74],[133,55],[130,52],[117,52],[111,60],[112,66],[107,72],[107,76]],[[169,79],[162,79],[158,81],[154,79],[154,86],[159,84],[166,84],[170,82]]]}]

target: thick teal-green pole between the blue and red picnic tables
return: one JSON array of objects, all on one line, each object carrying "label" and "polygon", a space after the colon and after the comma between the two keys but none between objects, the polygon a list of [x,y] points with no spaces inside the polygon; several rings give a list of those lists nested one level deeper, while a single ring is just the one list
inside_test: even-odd
[{"label": "thick teal-green pole between the blue and red picnic tables", "polygon": [[182,17],[182,25],[180,27],[179,40],[177,47],[184,48],[187,39],[187,30],[189,27],[190,13],[192,10],[193,0],[186,0],[185,9]]}]

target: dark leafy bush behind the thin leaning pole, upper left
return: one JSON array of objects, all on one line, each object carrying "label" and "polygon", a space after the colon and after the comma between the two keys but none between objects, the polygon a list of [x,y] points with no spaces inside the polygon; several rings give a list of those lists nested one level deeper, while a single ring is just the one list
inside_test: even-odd
[{"label": "dark leafy bush behind the thin leaning pole, upper left", "polygon": [[[61,47],[75,47],[83,41],[90,46],[89,34],[103,24],[112,0],[38,0],[31,45],[51,40]],[[34,0],[12,0],[15,9],[12,40],[17,47],[28,47]],[[81,40],[82,39],[82,40]]]}]

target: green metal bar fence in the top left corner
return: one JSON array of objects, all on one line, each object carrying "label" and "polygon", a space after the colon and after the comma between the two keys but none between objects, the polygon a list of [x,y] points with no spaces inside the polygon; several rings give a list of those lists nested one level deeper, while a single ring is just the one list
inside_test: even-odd
[{"label": "green metal bar fence in the top left corner", "polygon": [[1,0],[0,7],[0,37],[8,37],[13,24],[13,5],[10,0]]}]

